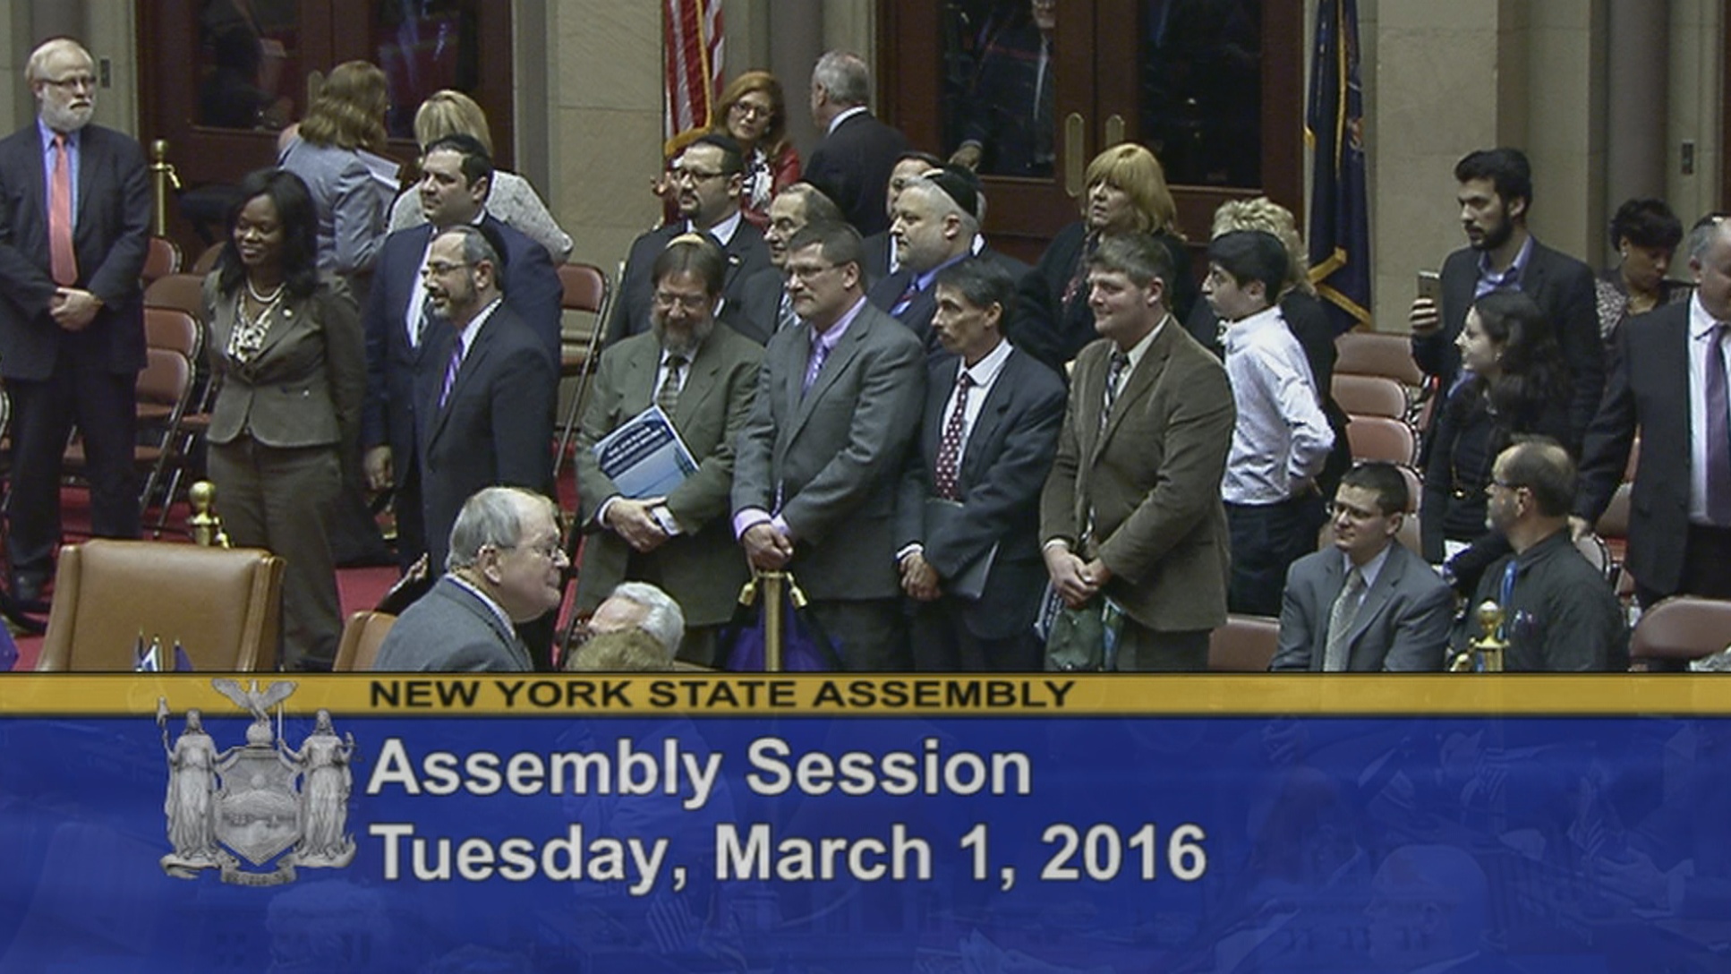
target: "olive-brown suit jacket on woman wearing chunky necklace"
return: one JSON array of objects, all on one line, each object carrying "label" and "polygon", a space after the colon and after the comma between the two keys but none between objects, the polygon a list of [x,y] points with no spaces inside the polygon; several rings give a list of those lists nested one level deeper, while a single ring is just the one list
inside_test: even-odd
[{"label": "olive-brown suit jacket on woman wearing chunky necklace", "polygon": [[306,298],[284,298],[272,313],[265,344],[251,362],[228,358],[241,287],[216,291],[204,279],[204,320],[211,374],[222,393],[211,410],[211,443],[232,443],[244,431],[267,446],[353,445],[367,394],[360,313],[341,279],[327,279]]}]

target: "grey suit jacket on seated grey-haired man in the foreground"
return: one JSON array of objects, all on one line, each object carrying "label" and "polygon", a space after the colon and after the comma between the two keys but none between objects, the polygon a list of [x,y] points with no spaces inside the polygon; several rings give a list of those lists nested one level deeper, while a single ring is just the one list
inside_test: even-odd
[{"label": "grey suit jacket on seated grey-haired man in the foreground", "polygon": [[384,635],[376,671],[526,673],[518,635],[474,592],[440,578]]}]

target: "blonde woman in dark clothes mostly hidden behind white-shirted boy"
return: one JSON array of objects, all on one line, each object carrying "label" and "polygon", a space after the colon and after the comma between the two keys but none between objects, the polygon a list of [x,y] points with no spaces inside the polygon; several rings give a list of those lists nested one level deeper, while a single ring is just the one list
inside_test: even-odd
[{"label": "blonde woman in dark clothes mostly hidden behind white-shirted boy", "polygon": [[[1347,412],[1335,401],[1335,325],[1316,296],[1310,284],[1310,258],[1298,235],[1298,221],[1293,211],[1265,195],[1255,199],[1229,199],[1213,211],[1213,230],[1208,239],[1232,230],[1260,230],[1272,235],[1286,249],[1286,282],[1281,287],[1276,304],[1286,330],[1298,339],[1305,362],[1310,365],[1310,379],[1316,382],[1316,394],[1322,403],[1322,415],[1328,417],[1329,429],[1335,431],[1335,448],[1328,455],[1317,486],[1322,497],[1333,497],[1340,477],[1352,467],[1352,445],[1347,443]],[[1226,327],[1207,301],[1198,301],[1184,327],[1222,362],[1226,360]]]}]

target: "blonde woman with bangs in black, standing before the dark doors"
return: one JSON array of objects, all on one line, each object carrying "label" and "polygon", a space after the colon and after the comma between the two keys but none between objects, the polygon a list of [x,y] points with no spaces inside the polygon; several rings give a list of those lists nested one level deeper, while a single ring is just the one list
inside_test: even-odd
[{"label": "blonde woman with bangs in black, standing before the dark doors", "polygon": [[1167,310],[1182,322],[1196,304],[1196,279],[1177,225],[1179,208],[1153,152],[1125,142],[1094,156],[1080,202],[1082,220],[1059,230],[1040,263],[1021,279],[1009,336],[1018,348],[1059,372],[1082,346],[1099,337],[1087,303],[1087,261],[1101,237],[1151,235],[1172,258]]}]

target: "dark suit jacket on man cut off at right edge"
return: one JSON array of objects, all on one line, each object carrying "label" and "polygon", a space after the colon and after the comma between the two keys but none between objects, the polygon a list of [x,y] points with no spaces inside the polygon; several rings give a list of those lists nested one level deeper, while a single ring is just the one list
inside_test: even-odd
[{"label": "dark suit jacket on man cut off at right edge", "polygon": [[1665,304],[1617,329],[1605,401],[1580,450],[1575,514],[1598,522],[1629,464],[1636,429],[1641,460],[1629,497],[1629,573],[1662,595],[1683,585],[1689,533],[1689,303]]}]

